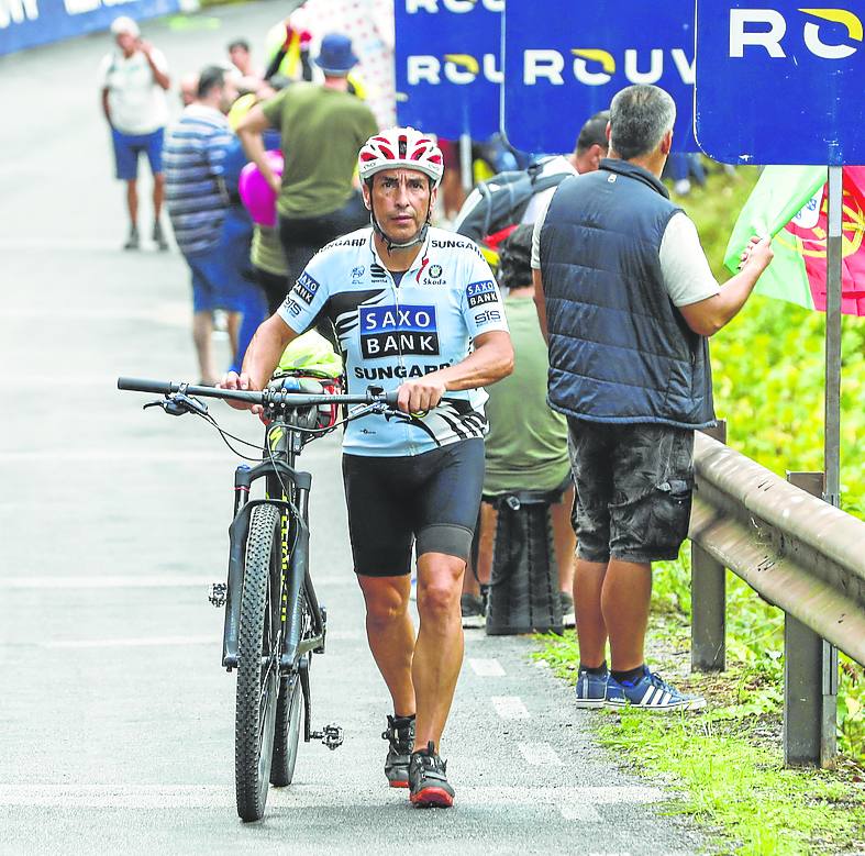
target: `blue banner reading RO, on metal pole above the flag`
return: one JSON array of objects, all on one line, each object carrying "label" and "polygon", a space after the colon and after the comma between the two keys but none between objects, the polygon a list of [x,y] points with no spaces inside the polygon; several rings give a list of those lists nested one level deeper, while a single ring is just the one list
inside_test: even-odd
[{"label": "blue banner reading RO, on metal pole above the flag", "polygon": [[865,2],[838,4],[698,0],[703,152],[729,164],[865,164]]}]

